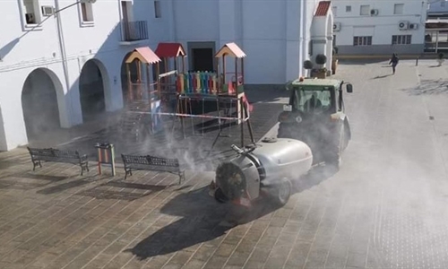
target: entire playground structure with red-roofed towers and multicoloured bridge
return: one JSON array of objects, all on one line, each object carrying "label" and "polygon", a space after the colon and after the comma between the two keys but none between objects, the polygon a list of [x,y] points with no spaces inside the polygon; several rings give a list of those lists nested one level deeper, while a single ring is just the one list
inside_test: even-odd
[{"label": "entire playground structure with red-roofed towers and multicoloured bridge", "polygon": [[[179,43],[159,43],[156,52],[151,48],[135,48],[125,60],[128,79],[125,117],[122,130],[135,135],[142,141],[147,134],[163,130],[163,122],[170,117],[180,118],[185,138],[185,118],[190,119],[193,133],[196,134],[194,119],[201,120],[202,134],[205,121],[213,121],[219,127],[223,123],[230,126],[237,123],[241,130],[241,145],[244,145],[244,126],[246,122],[251,141],[254,143],[249,111],[252,109],[244,93],[244,57],[246,54],[235,43],[224,45],[215,55],[216,72],[196,71],[185,73],[185,49]],[[230,59],[226,57],[230,57]],[[235,71],[227,72],[226,60],[235,61]],[[173,61],[171,61],[171,59]],[[180,62],[180,63],[179,63]],[[160,63],[163,70],[160,74]],[[238,65],[239,63],[239,65]],[[174,69],[169,70],[171,67]],[[130,65],[137,65],[135,81],[131,79]],[[151,80],[151,71],[157,68]],[[180,70],[178,69],[180,67]],[[144,79],[143,74],[146,73]],[[155,80],[154,80],[155,78]],[[228,81],[227,81],[228,80]],[[205,111],[206,104],[215,106]],[[215,115],[211,115],[211,112]],[[224,115],[222,115],[224,113]],[[163,119],[163,120],[162,120]],[[175,130],[173,120],[172,130]],[[200,124],[199,124],[200,125]],[[125,127],[123,127],[125,126]],[[198,126],[198,125],[196,125]]]}]

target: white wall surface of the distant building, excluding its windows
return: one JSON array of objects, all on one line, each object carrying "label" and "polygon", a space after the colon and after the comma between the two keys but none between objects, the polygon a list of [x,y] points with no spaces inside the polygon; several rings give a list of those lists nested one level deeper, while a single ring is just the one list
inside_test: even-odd
[{"label": "white wall surface of the distant building, excluding its windows", "polygon": [[[341,30],[335,31],[336,46],[353,46],[353,37],[373,35],[372,45],[391,45],[392,35],[412,35],[412,44],[424,44],[426,1],[342,1],[333,0],[337,12],[334,22],[341,23]],[[377,9],[378,15],[360,15],[360,5],[369,4]],[[394,4],[404,4],[402,14],[394,14]],[[351,12],[346,12],[346,6]],[[418,30],[399,30],[400,21],[418,23]]]}]

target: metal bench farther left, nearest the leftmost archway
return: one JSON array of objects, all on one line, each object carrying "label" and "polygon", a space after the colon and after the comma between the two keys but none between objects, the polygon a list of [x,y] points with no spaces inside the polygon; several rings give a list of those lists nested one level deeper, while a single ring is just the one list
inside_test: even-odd
[{"label": "metal bench farther left, nearest the leftmost archway", "polygon": [[81,167],[81,176],[84,170],[89,172],[89,158],[87,154],[80,155],[77,151],[61,151],[57,149],[36,149],[27,147],[32,161],[32,170],[36,167],[42,167],[40,161],[65,162],[79,165]]}]

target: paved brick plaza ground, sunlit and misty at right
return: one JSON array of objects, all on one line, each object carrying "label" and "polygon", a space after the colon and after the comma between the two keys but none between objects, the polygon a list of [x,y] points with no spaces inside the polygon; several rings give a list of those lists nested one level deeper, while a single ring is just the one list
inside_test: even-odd
[{"label": "paved brick plaza ground, sunlit and misty at right", "polygon": [[[0,268],[447,268],[448,65],[386,64],[340,63],[354,86],[340,171],[314,169],[286,206],[262,201],[233,228],[220,224],[242,214],[208,195],[210,170],[178,185],[94,163],[84,176],[60,163],[33,172],[26,149],[0,153]],[[257,139],[286,100],[276,94],[252,99],[271,112],[254,112]]]}]

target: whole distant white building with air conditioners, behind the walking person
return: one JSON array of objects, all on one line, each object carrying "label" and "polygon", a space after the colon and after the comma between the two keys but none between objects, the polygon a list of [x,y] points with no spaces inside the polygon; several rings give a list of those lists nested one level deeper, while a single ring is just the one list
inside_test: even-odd
[{"label": "whole distant white building with air conditioners, behind the walking person", "polygon": [[419,54],[425,45],[427,1],[332,1],[340,54]]}]

